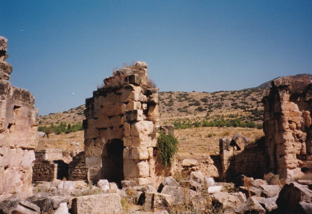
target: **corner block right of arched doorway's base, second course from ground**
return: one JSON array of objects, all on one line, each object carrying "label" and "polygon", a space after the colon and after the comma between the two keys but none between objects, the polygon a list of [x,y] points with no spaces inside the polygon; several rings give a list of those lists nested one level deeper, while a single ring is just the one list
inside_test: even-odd
[{"label": "corner block right of arched doorway's base, second course from ground", "polygon": [[149,164],[147,161],[124,160],[124,177],[137,178],[149,176]]}]

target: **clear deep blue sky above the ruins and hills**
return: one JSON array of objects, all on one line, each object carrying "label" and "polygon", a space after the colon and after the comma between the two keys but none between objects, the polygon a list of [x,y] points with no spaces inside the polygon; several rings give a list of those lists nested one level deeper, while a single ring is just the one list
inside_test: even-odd
[{"label": "clear deep blue sky above the ruins and hills", "polygon": [[161,91],[312,73],[312,1],[10,0],[0,20],[10,82],[35,96],[40,115],[84,104],[133,60],[148,64]]}]

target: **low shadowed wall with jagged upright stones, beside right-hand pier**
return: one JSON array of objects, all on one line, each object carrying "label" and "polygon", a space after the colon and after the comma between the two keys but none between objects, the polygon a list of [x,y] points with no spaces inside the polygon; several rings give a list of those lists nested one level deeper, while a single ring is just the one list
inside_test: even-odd
[{"label": "low shadowed wall with jagged upright stones, beside right-hand pier", "polygon": [[240,133],[232,139],[219,139],[222,176],[229,178],[235,174],[245,174],[263,178],[267,172],[267,160],[262,139],[249,142]]}]

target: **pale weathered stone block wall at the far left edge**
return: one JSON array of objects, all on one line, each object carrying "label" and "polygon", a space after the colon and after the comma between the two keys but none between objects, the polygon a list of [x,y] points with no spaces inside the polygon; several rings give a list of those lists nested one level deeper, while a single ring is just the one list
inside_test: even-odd
[{"label": "pale weathered stone block wall at the far left edge", "polygon": [[7,39],[0,36],[0,195],[32,193],[34,149],[38,144],[35,99],[7,81],[12,66],[5,62]]}]

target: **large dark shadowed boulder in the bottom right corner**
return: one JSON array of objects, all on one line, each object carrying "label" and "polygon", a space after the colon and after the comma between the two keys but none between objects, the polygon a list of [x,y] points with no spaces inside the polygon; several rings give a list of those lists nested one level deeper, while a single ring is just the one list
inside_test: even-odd
[{"label": "large dark shadowed boulder in the bottom right corner", "polygon": [[312,203],[312,190],[296,182],[286,183],[276,199],[278,209],[284,213],[296,212],[299,202]]}]

